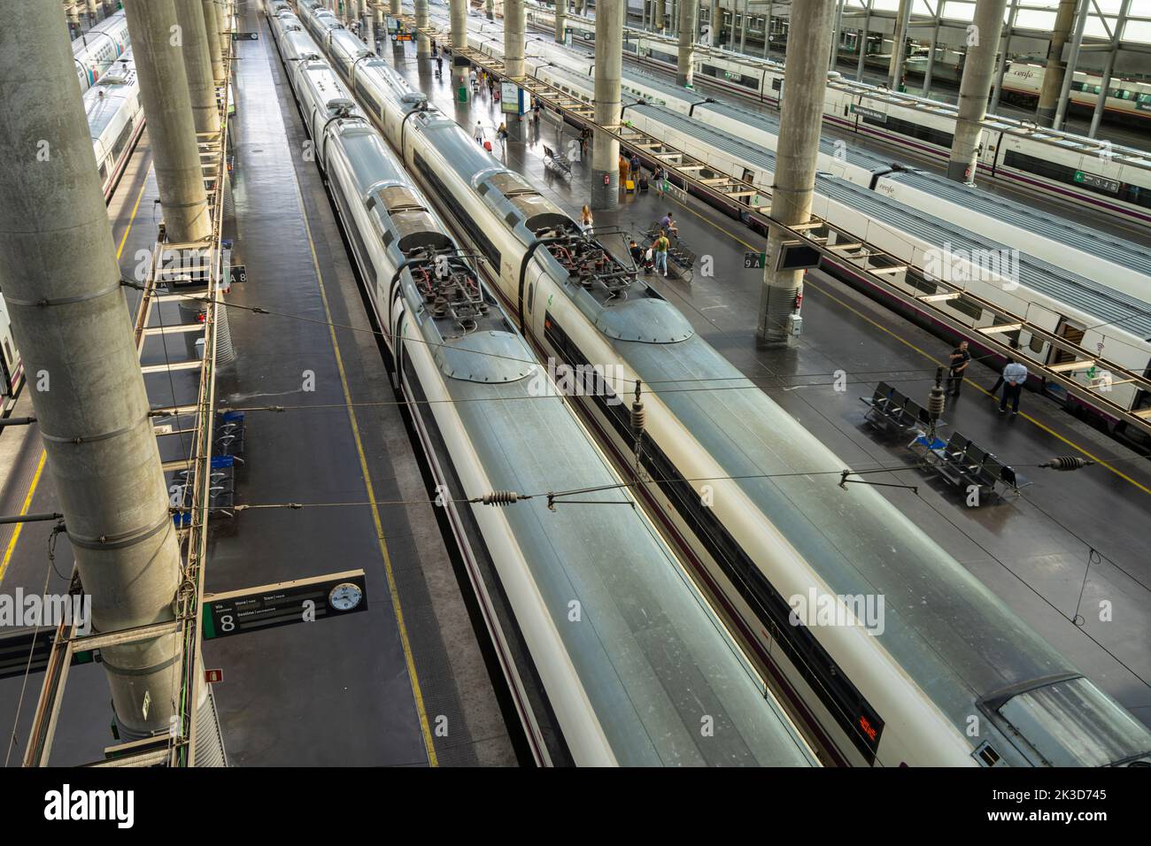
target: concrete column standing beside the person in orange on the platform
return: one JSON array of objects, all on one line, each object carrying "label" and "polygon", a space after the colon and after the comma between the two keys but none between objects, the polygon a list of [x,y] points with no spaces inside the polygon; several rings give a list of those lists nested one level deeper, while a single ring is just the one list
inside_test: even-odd
[{"label": "concrete column standing beside the person in orange on the platform", "polygon": [[[619,123],[627,0],[600,0],[595,8],[595,122]],[[592,139],[592,208],[619,205],[619,142],[596,130]]]}]

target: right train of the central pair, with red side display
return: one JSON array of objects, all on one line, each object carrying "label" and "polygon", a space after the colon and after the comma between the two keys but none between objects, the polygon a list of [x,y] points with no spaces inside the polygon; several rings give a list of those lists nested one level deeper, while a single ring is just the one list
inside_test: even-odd
[{"label": "right train of the central pair, with red side display", "polygon": [[[1145,726],[883,496],[840,488],[844,463],[594,231],[483,154],[317,0],[297,8],[487,257],[540,355],[611,368],[586,381],[587,419],[619,466],[639,464],[635,487],[664,533],[820,746],[887,767],[1151,761]],[[617,402],[637,383],[642,426]]]}]

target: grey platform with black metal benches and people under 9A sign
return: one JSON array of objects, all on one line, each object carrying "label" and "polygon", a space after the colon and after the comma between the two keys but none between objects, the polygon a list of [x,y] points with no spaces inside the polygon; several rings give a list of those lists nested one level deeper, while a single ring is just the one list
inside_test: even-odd
[{"label": "grey platform with black metal benches and people under 9A sign", "polygon": [[[590,162],[576,162],[570,180],[543,165],[544,145],[567,150],[577,137],[572,127],[543,120],[536,130],[525,122],[524,140],[510,140],[502,148],[495,140],[504,120],[498,104],[486,93],[458,102],[447,73],[436,78],[434,61],[418,61],[414,45],[381,40],[379,46],[380,55],[445,114],[470,132],[479,122],[497,158],[578,216],[590,196]],[[1017,418],[1000,417],[988,392],[998,374],[975,361],[962,395],[948,403],[943,419],[1006,464],[1028,467],[1024,473],[1034,485],[1017,500],[967,508],[954,488],[909,466],[906,443],[892,442],[867,424],[867,409],[860,402],[885,380],[925,404],[950,343],[847,284],[811,272],[799,343],[757,349],[762,270],[745,269],[744,254],[764,249],[759,236],[694,199],[680,204],[657,198],[654,190],[623,196],[618,209],[595,212],[595,224],[615,224],[638,236],[668,211],[677,219],[680,238],[700,258],[711,259],[714,274],[702,275],[698,264],[691,282],[648,280],[845,466],[899,468],[868,479],[916,486],[917,495],[906,488],[881,490],[1100,687],[1151,725],[1146,459],[1035,394],[1024,395]],[[846,390],[836,390],[837,372],[847,374]],[[1057,455],[1077,455],[1097,464],[1073,474],[1036,467]],[[1100,619],[1100,608],[1111,609],[1110,618],[1103,613]]]}]

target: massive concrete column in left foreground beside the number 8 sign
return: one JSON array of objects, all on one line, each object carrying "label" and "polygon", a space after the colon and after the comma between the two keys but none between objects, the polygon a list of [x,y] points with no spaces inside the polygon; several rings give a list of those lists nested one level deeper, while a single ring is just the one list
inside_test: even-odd
[{"label": "massive concrete column in left foreground beside the number 8 sign", "polygon": [[[63,12],[0,0],[0,20],[20,21],[0,30],[0,277],[24,366],[49,380],[32,406],[93,630],[171,620],[180,549]],[[166,731],[178,638],[101,654],[122,739]]]}]

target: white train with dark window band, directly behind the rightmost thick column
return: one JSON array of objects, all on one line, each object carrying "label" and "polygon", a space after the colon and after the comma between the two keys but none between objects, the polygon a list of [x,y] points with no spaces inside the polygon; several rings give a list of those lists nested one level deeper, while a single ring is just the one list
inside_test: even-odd
[{"label": "white train with dark window band, directly behind the rightmost thick column", "polygon": [[[552,28],[550,9],[528,3],[527,20]],[[488,29],[495,31],[500,23]],[[588,43],[594,22],[569,16],[567,28]],[[674,71],[678,43],[666,36],[626,30],[625,55]],[[581,73],[590,73],[590,59]],[[780,62],[711,47],[695,52],[696,81],[757,102],[779,104],[784,82]],[[1143,94],[1148,96],[1148,94]],[[1151,102],[1146,104],[1151,107]],[[956,107],[883,86],[828,75],[823,119],[841,130],[890,145],[921,160],[946,163],[951,157]],[[1082,204],[1115,221],[1151,228],[1151,153],[1066,131],[1042,129],[1028,121],[988,115],[976,177],[1062,203]]]}]

